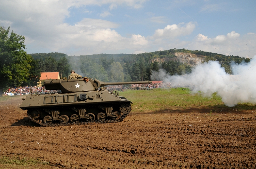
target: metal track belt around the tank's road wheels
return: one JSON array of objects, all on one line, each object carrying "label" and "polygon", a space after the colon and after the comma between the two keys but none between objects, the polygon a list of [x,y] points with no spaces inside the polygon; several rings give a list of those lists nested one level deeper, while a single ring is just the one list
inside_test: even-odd
[{"label": "metal track belt around the tank's road wheels", "polygon": [[52,123],[52,124],[45,124],[45,123],[42,123],[42,120],[36,120],[34,119],[32,116],[30,116],[28,113],[28,118],[41,125],[41,126],[44,126],[44,127],[54,127],[54,126],[71,126],[71,125],[84,125],[84,124],[97,124],[97,123],[118,123],[118,122],[122,122],[124,120],[124,118],[126,116],[129,115],[129,113],[131,112],[132,110],[132,107],[129,103],[123,103],[121,104],[120,106],[120,110],[121,110],[121,117],[118,119],[118,120],[104,120],[104,121],[97,121],[95,119],[95,121],[93,122],[78,122],[78,123]]}]

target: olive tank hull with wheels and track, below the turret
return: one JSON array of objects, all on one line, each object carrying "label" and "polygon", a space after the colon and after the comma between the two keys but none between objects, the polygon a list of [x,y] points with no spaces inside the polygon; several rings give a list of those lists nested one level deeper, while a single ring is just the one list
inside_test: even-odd
[{"label": "olive tank hull with wheels and track, below the turret", "polygon": [[108,91],[27,96],[20,105],[42,125],[120,122],[131,111],[131,101]]}]

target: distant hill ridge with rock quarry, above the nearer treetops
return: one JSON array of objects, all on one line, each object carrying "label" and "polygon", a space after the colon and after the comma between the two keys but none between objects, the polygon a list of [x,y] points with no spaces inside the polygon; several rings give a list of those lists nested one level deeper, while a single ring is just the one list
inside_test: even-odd
[{"label": "distant hill ridge with rock quarry, above the nearer treetops", "polygon": [[[46,57],[51,56],[55,60],[60,60],[61,57],[67,57],[68,55],[65,53],[32,53],[30,54],[34,59],[45,59]],[[69,58],[76,58],[78,56],[68,56]],[[164,61],[168,62],[169,60],[179,61],[181,63],[186,63],[190,66],[195,66],[198,63],[209,61],[209,60],[217,60],[220,63],[229,63],[230,61],[235,61],[236,63],[241,63],[243,60],[245,62],[249,62],[249,58],[233,56],[233,55],[223,55],[218,53],[204,52],[199,50],[187,50],[187,49],[170,49],[165,51],[156,51],[149,53],[140,53],[140,54],[92,54],[92,55],[80,55],[80,57],[88,57],[92,58],[96,62],[100,62],[101,58],[106,58],[106,60],[114,59],[118,62],[123,63],[134,63],[139,61],[140,58],[143,58],[146,63],[150,62],[160,62]]]}]

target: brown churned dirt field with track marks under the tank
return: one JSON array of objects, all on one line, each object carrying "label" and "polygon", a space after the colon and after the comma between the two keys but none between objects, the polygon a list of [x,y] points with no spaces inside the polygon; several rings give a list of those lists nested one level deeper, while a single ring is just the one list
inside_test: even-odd
[{"label": "brown churned dirt field with track marks under the tank", "polygon": [[21,98],[0,102],[0,168],[256,168],[255,109],[132,111],[121,123],[40,127]]}]

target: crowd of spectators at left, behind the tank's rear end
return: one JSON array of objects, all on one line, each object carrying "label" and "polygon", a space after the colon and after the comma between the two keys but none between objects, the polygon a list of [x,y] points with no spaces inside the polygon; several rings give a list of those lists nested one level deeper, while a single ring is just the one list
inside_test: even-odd
[{"label": "crowd of spectators at left, behind the tank's rear end", "polygon": [[45,94],[45,93],[57,93],[60,90],[46,90],[45,87],[37,87],[37,86],[24,86],[24,87],[14,87],[7,89],[4,94],[8,95],[8,93],[13,93],[17,95],[30,95],[30,88],[32,89],[32,94]]}]

